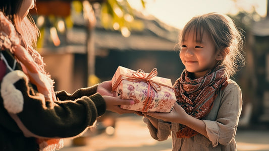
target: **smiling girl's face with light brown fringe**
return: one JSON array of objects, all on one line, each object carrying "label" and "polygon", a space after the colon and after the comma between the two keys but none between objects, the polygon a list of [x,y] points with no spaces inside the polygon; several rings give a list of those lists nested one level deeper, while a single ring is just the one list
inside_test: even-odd
[{"label": "smiling girl's face with light brown fringe", "polygon": [[186,70],[194,73],[194,78],[203,77],[209,69],[212,69],[222,59],[217,54],[211,37],[203,32],[201,39],[196,39],[196,33],[190,31],[182,39],[180,59]]}]

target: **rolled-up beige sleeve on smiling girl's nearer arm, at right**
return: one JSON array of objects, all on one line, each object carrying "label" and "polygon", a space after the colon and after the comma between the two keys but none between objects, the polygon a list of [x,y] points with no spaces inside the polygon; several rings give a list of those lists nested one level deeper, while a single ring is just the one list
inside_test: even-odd
[{"label": "rolled-up beige sleeve on smiling girl's nearer arm, at right", "polygon": [[242,94],[238,85],[232,83],[228,86],[221,95],[217,119],[215,121],[203,120],[213,146],[217,146],[219,143],[229,144],[236,134],[242,110]]}]

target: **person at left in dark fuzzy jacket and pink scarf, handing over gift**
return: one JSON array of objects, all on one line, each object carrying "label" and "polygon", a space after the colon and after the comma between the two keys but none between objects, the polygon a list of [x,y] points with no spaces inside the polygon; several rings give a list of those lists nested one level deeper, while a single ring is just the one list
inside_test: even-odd
[{"label": "person at left in dark fuzzy jacket and pink scarf, handing over gift", "polygon": [[[111,81],[73,94],[54,92],[34,50],[38,29],[27,16],[34,0],[0,2],[0,150],[55,150],[81,135],[105,110],[129,113],[112,97]],[[103,96],[101,96],[103,95]]]}]

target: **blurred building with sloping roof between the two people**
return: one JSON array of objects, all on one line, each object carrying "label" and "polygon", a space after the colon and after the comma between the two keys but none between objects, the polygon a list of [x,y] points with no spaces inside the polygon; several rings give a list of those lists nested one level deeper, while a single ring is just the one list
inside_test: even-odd
[{"label": "blurred building with sloping roof between the two people", "polygon": [[[42,1],[42,3],[47,5],[46,1]],[[66,90],[72,93],[81,87],[87,87],[88,61],[91,61],[88,59],[87,50],[89,31],[83,14],[74,12],[72,5],[68,5],[68,2],[63,3],[65,3],[66,9],[71,10],[69,13],[73,21],[72,28],[66,28],[62,33],[57,29],[61,43],[56,46],[51,37],[53,27],[61,20],[68,24],[63,19],[68,14],[62,12],[52,18],[49,14],[41,16],[44,23],[39,28],[43,39],[39,40],[42,47],[38,50],[44,57],[46,70],[56,81],[56,91]],[[38,8],[38,10],[40,9]],[[135,12],[135,18],[143,23],[143,28],[142,30],[132,30],[128,37],[124,37],[119,31],[103,28],[98,13],[100,11],[95,10],[95,12],[97,22],[91,37],[94,41],[92,44],[94,47],[94,74],[100,82],[111,80],[119,65],[133,70],[142,69],[145,72],[150,72],[156,67],[158,76],[170,78],[172,83],[180,77],[183,65],[176,46],[179,29],[168,26],[152,16],[145,17],[141,13]],[[40,11],[38,15],[33,16],[36,22],[42,15]]]}]

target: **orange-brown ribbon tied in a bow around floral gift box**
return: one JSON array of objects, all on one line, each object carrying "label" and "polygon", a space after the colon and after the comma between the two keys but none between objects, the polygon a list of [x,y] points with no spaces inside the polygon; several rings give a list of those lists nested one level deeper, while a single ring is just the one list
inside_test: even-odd
[{"label": "orange-brown ribbon tied in a bow around floral gift box", "polygon": [[[132,75],[120,74],[119,78],[117,79],[117,81],[113,85],[112,90],[115,91],[123,80],[128,80],[131,82],[141,82],[142,81],[142,82],[147,83],[148,84],[147,97],[146,97],[145,104],[142,108],[142,112],[147,112],[148,107],[150,106],[150,104],[152,102],[152,94],[153,94],[152,89],[157,92],[157,91],[162,90],[162,88],[160,86],[165,86],[165,87],[171,88],[167,85],[160,84],[158,82],[151,80],[153,77],[155,77],[157,75],[157,73],[158,73],[157,69],[153,68],[151,70],[151,72],[148,73],[148,75],[141,69],[134,71],[132,73]],[[173,89],[173,88],[171,88],[171,89]]]}]

